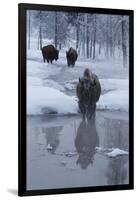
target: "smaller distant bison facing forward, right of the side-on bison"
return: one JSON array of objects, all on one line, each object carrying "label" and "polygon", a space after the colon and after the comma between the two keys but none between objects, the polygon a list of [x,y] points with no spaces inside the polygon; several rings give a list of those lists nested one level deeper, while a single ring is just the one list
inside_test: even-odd
[{"label": "smaller distant bison facing forward, right of the side-on bison", "polygon": [[71,65],[72,67],[74,67],[75,62],[77,60],[78,54],[76,52],[75,49],[73,49],[72,47],[66,51],[66,58],[67,58],[67,62],[68,62],[68,67]]}]

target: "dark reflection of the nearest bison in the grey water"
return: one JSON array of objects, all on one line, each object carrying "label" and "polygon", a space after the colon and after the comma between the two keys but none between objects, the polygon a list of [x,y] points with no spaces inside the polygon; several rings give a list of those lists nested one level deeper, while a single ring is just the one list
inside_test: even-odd
[{"label": "dark reflection of the nearest bison in the grey water", "polygon": [[75,138],[75,146],[78,152],[77,164],[82,169],[86,169],[90,164],[93,164],[95,148],[99,146],[99,137],[96,131],[95,120],[83,120],[78,129]]}]

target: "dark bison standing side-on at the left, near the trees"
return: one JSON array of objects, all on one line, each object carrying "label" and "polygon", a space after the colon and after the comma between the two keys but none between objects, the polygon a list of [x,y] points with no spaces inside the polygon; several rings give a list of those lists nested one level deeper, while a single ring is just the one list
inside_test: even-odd
[{"label": "dark bison standing side-on at the left, near the trees", "polygon": [[53,46],[53,45],[47,45],[45,47],[42,47],[41,49],[43,60],[47,60],[47,62],[53,62],[53,60],[58,60],[59,57],[59,51]]}]

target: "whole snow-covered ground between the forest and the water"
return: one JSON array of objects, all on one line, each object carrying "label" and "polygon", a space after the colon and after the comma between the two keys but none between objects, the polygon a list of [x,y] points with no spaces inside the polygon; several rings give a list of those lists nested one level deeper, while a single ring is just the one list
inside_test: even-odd
[{"label": "whole snow-covered ground between the forest and the water", "polygon": [[102,95],[97,109],[128,111],[128,69],[114,60],[94,62],[79,57],[74,68],[68,68],[65,50],[53,64],[43,63],[40,50],[27,52],[27,114],[77,114],[76,84],[85,68],[100,79]]}]

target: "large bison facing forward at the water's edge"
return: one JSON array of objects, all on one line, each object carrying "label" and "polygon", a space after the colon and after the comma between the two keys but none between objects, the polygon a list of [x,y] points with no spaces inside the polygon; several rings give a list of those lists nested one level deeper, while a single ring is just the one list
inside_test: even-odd
[{"label": "large bison facing forward at the water's edge", "polygon": [[89,69],[85,69],[83,77],[79,78],[77,84],[77,97],[79,99],[79,109],[83,119],[95,118],[96,102],[101,94],[101,85],[98,77]]}]

